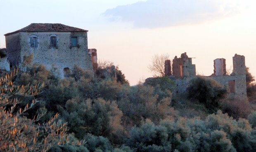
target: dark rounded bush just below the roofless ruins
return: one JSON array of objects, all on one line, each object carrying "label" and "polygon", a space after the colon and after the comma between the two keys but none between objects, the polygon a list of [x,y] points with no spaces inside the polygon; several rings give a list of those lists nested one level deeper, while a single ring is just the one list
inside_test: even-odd
[{"label": "dark rounded bush just below the roofless ruins", "polygon": [[225,98],[226,94],[226,88],[212,79],[201,76],[192,79],[187,87],[187,98],[196,99],[210,109],[217,108],[220,99]]}]

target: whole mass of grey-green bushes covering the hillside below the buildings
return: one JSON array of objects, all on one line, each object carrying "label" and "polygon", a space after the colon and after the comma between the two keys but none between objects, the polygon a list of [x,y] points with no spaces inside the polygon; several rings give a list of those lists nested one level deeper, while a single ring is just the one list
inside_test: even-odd
[{"label": "whole mass of grey-green bushes covering the hillside below the buildings", "polygon": [[[30,58],[25,61],[28,64]],[[12,95],[10,99],[19,97],[22,102],[25,101],[24,103],[29,105],[34,98],[40,102],[19,115],[20,117],[9,115],[11,118],[8,119],[32,122],[37,126],[37,130],[28,127],[28,131],[21,127],[24,134],[20,137],[29,142],[33,139],[30,135],[40,131],[43,136],[39,134],[40,139],[36,140],[40,142],[43,138],[49,137],[49,152],[256,151],[256,113],[250,114],[250,103],[226,99],[220,104],[219,101],[225,96],[226,90],[213,80],[197,77],[191,81],[187,97],[199,102],[183,102],[177,97],[175,104],[171,104],[173,82],[167,77],[157,77],[154,78],[156,81],[147,81],[130,87],[127,83],[121,82],[125,81],[124,77],[122,80],[95,77],[92,72],[78,66],[74,67],[65,79],[54,76],[42,65],[31,64],[23,68],[24,72],[19,73],[14,77],[14,82],[9,84],[46,82],[47,86],[41,88],[37,94],[33,92],[30,98]],[[14,90],[19,91],[17,87]],[[30,95],[31,92],[27,93]],[[2,91],[2,94],[5,92]],[[176,109],[171,105],[175,105]],[[8,109],[11,106],[5,107]],[[16,110],[25,106],[26,104],[19,103]],[[199,111],[198,114],[203,111],[205,116],[203,119],[194,117],[193,114],[192,118],[180,117],[182,114],[177,111],[177,107],[187,112],[190,112],[187,107],[191,107]],[[235,119],[221,111],[217,112],[218,108]],[[209,111],[215,114],[209,115]],[[3,110],[0,112],[4,113]],[[59,115],[56,115],[57,112]],[[44,115],[41,115],[40,119],[33,120],[35,114],[42,113]],[[58,117],[52,119],[54,115]],[[4,120],[5,117],[3,115],[0,118]],[[240,117],[247,117],[248,120]],[[0,121],[3,122],[5,121]],[[61,125],[64,123],[65,125]],[[55,129],[59,128],[55,126],[62,127],[61,136],[56,134],[59,132]],[[49,134],[47,127],[55,132]],[[76,138],[82,141],[82,145],[76,145]],[[2,141],[0,138],[0,142]],[[57,141],[61,141],[60,145]]]}]

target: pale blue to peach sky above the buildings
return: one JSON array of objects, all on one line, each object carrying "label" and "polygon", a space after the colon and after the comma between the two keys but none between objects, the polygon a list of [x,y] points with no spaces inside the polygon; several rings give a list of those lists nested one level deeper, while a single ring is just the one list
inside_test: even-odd
[{"label": "pale blue to peach sky above the buildings", "polygon": [[88,32],[98,59],[119,65],[131,85],[152,77],[154,54],[187,52],[200,74],[213,60],[244,55],[256,76],[255,0],[0,0],[0,48],[5,33],[30,23],[62,23]]}]

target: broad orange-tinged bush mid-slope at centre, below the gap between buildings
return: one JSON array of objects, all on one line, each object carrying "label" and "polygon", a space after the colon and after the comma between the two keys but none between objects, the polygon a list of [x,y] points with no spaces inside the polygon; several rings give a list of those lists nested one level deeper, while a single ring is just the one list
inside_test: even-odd
[{"label": "broad orange-tinged bush mid-slope at centre, below the gap between buildings", "polygon": [[118,101],[119,108],[129,117],[125,124],[140,125],[145,119],[158,124],[161,119],[173,119],[177,112],[171,108],[171,93],[161,100],[154,93],[154,87],[138,84],[131,87],[127,98]]}]

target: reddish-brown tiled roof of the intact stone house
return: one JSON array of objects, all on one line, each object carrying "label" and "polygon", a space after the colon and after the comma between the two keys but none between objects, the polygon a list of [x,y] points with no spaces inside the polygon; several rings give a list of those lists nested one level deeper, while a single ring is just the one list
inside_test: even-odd
[{"label": "reddish-brown tiled roof of the intact stone house", "polygon": [[5,36],[18,32],[88,32],[88,30],[74,28],[60,23],[31,23],[29,26],[7,33]]}]

